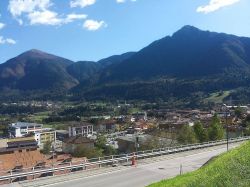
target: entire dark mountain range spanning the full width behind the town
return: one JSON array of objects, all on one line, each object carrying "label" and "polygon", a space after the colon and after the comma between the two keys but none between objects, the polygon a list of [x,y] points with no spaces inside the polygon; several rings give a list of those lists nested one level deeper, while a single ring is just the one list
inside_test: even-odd
[{"label": "entire dark mountain range spanning the full width behind the town", "polygon": [[210,94],[223,96],[232,90],[240,92],[231,95],[246,100],[249,88],[250,38],[193,26],[184,26],[138,52],[98,62],[72,62],[30,50],[0,65],[1,90],[63,89],[75,100],[163,99],[193,105]]}]

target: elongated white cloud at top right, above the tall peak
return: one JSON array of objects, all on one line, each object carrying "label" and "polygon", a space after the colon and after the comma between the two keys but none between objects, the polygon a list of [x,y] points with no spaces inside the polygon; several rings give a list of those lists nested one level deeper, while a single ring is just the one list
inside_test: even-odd
[{"label": "elongated white cloud at top right, above the tall peak", "polygon": [[238,3],[239,1],[240,0],[210,0],[208,5],[200,6],[196,11],[207,14],[219,10],[222,7]]}]

